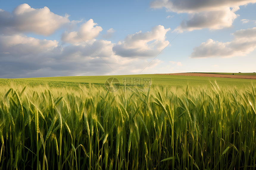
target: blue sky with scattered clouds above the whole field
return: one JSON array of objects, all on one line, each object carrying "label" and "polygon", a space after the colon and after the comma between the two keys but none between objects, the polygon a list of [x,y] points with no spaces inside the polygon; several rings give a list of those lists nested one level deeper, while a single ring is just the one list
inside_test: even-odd
[{"label": "blue sky with scattered clouds above the whole field", "polygon": [[256,0],[1,1],[0,78],[256,72]]}]

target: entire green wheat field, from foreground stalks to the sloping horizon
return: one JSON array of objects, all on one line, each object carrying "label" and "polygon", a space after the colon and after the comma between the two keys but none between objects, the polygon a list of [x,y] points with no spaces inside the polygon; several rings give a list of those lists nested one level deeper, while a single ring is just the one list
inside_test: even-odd
[{"label": "entire green wheat field, from foreground stalks to the sloping horizon", "polygon": [[255,109],[256,80],[0,79],[0,169],[255,169]]}]

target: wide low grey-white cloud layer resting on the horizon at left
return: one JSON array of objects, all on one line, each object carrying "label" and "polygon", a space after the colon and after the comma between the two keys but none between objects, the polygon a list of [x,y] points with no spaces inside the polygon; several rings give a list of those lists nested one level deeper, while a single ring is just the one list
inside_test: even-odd
[{"label": "wide low grey-white cloud layer resting on the horizon at left", "polygon": [[[22,35],[0,38],[0,78],[138,74],[149,63],[115,55],[115,44],[107,40],[87,42],[95,53],[85,43],[61,46],[57,41]],[[146,69],[161,62],[153,61]]]}]

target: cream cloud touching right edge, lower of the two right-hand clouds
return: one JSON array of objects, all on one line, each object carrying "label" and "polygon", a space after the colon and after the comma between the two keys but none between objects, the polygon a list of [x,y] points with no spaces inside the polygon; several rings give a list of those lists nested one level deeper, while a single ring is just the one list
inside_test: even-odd
[{"label": "cream cloud touching right edge, lower of the two right-hand clouds", "polygon": [[230,42],[208,39],[193,49],[192,58],[245,56],[256,48],[256,27],[236,31]]}]

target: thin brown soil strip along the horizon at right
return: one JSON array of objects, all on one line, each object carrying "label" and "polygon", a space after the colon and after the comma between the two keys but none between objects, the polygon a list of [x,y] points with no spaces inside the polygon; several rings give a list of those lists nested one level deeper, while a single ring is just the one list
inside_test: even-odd
[{"label": "thin brown soil strip along the horizon at right", "polygon": [[256,79],[256,75],[227,75],[227,74],[208,74],[208,73],[171,73],[160,75],[179,75],[179,76],[202,76],[202,77],[223,77],[223,78],[238,78],[238,79]]}]

